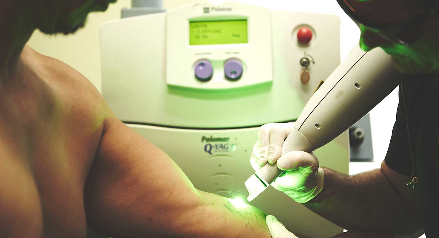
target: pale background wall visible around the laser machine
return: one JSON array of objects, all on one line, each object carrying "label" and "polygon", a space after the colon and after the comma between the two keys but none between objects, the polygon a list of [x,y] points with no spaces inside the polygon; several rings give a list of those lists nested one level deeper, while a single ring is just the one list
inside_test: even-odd
[{"label": "pale background wall visible around the laser machine", "polygon": [[[345,59],[350,49],[358,42],[360,31],[347,17],[335,0],[237,0],[247,4],[256,4],[278,11],[306,11],[325,14],[336,14],[341,19],[341,59]],[[164,0],[164,7],[172,9],[198,0]],[[99,91],[101,91],[101,57],[99,46],[99,25],[104,21],[120,18],[120,11],[130,7],[130,0],[118,0],[110,4],[105,12],[89,14],[86,26],[73,35],[47,36],[36,30],[29,45],[35,50],[57,58],[81,72]],[[328,49],[330,50],[330,49]],[[396,115],[398,103],[397,92],[392,92],[386,99],[371,111],[372,143],[374,158],[373,167],[379,166],[387,152],[389,139]]]}]

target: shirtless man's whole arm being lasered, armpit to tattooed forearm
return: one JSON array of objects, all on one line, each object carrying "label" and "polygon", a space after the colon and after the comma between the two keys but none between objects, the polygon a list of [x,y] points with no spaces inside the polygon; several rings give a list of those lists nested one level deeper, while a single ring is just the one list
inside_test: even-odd
[{"label": "shirtless man's whole arm being lasered, armpit to tattooed forearm", "polygon": [[87,223],[124,237],[270,237],[264,214],[198,192],[165,153],[116,118],[104,132],[85,189]]}]

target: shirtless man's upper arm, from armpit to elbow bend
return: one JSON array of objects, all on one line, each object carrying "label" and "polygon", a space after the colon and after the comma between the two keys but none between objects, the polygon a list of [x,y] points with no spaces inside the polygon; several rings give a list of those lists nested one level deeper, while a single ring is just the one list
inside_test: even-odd
[{"label": "shirtless man's upper arm, from armpit to elbow bend", "polygon": [[[105,121],[87,185],[87,217],[114,217],[150,231],[161,230],[167,219],[191,210],[200,200],[191,182],[165,153],[115,118]],[[148,222],[138,224],[140,220]],[[119,229],[124,232],[123,226]]]}]

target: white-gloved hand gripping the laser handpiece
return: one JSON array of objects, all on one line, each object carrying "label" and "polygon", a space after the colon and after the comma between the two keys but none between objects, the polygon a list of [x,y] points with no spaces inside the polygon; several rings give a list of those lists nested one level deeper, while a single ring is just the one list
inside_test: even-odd
[{"label": "white-gloved hand gripping the laser handpiece", "polygon": [[293,123],[269,123],[261,126],[258,141],[252,149],[250,163],[255,171],[268,163],[276,163],[285,170],[271,185],[304,203],[313,199],[323,188],[323,169],[313,153],[292,151],[281,156],[284,141]]}]

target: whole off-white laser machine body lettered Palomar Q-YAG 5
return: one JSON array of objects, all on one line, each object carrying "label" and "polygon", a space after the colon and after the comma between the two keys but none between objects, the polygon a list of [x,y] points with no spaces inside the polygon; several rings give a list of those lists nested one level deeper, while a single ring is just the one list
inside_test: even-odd
[{"label": "whole off-white laser machine body lettered Palomar Q-YAG 5", "polygon": [[[303,27],[312,33],[308,43],[299,43]],[[237,2],[110,21],[100,28],[102,94],[116,116],[167,153],[196,188],[245,199],[259,126],[297,120],[340,64],[339,29],[334,15]],[[309,60],[309,81],[301,80],[302,58]],[[315,153],[321,166],[348,173],[347,132]],[[274,188],[250,204],[297,234],[342,231]]]}]

